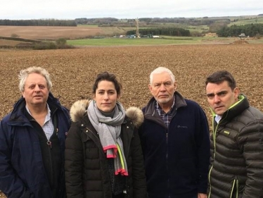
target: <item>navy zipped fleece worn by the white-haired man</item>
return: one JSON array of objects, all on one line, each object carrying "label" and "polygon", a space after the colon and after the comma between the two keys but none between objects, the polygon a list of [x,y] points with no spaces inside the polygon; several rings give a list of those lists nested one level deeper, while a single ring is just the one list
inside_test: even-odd
[{"label": "navy zipped fleece worn by the white-haired man", "polygon": [[210,140],[207,118],[194,101],[174,93],[169,128],[150,99],[139,129],[150,198],[193,198],[207,192]]}]

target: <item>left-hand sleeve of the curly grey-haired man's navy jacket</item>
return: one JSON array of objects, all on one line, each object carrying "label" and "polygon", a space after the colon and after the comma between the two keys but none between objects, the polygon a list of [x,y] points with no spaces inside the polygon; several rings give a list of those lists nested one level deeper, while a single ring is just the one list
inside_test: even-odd
[{"label": "left-hand sleeve of the curly grey-haired man's navy jacket", "polygon": [[22,180],[15,173],[11,163],[12,140],[11,129],[8,127],[4,118],[0,123],[0,190],[7,197],[12,198],[29,198],[34,197]]}]

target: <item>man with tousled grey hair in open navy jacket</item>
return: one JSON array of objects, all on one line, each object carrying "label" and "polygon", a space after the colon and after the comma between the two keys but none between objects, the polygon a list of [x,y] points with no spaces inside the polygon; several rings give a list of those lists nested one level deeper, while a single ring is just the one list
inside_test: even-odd
[{"label": "man with tousled grey hair in open navy jacket", "polygon": [[64,198],[69,111],[51,94],[44,68],[19,77],[23,97],[0,123],[0,189],[12,198]]}]

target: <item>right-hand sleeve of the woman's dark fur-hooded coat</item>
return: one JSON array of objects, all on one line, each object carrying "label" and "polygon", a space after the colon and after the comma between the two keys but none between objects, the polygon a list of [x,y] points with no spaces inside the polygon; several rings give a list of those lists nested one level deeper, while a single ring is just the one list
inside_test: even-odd
[{"label": "right-hand sleeve of the woman's dark fur-hooded coat", "polygon": [[147,196],[146,173],[141,150],[141,141],[136,128],[134,129],[134,138],[131,140],[131,158],[134,198],[145,198]]}]

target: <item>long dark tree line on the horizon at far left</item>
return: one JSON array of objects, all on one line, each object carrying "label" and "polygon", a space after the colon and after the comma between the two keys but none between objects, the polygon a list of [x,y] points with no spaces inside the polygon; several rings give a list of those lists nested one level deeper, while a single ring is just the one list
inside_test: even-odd
[{"label": "long dark tree line on the horizon at far left", "polygon": [[13,25],[13,26],[77,26],[75,20],[8,20],[0,19],[0,25]]}]

